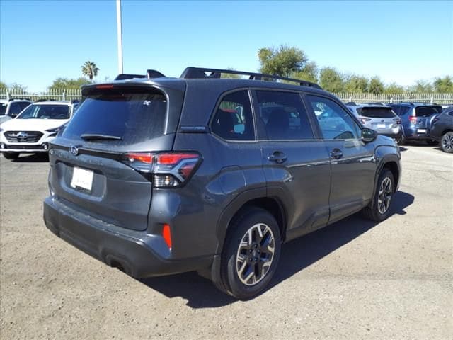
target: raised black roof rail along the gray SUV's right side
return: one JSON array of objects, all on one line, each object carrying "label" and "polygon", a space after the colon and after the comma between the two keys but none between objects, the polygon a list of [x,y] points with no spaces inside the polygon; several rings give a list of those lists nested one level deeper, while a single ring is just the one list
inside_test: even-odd
[{"label": "raised black roof rail along the gray SUV's right side", "polygon": [[[207,74],[207,72],[209,74]],[[183,74],[180,75],[180,78],[181,79],[212,79],[212,78],[220,78],[222,73],[248,76],[248,79],[251,79],[251,80],[273,79],[274,81],[276,81],[276,80],[292,81],[294,83],[299,84],[300,86],[309,86],[309,87],[314,87],[315,89],[321,89],[321,86],[319,86],[318,84],[315,84],[315,83],[311,83],[310,81],[294,79],[294,78],[287,78],[287,77],[280,77],[280,76],[263,74],[263,73],[236,71],[234,69],[205,69],[202,67],[187,67],[184,70]]]}]

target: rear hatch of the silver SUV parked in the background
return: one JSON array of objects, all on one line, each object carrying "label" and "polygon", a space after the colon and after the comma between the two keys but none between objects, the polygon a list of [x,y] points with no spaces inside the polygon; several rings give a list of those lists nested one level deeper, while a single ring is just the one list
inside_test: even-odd
[{"label": "rear hatch of the silver SUV parked in the background", "polygon": [[357,108],[362,124],[373,130],[389,130],[401,124],[401,119],[388,106],[364,106]]}]

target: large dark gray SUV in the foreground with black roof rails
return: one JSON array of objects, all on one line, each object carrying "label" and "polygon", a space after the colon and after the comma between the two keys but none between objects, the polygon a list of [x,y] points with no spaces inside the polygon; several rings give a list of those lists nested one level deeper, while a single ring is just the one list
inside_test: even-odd
[{"label": "large dark gray SUV in the foreground with black roof rails", "polygon": [[117,79],[82,88],[50,145],[44,202],[47,228],[110,266],[198,271],[247,299],[283,243],[360,210],[391,214],[398,146],[316,84],[194,67]]}]

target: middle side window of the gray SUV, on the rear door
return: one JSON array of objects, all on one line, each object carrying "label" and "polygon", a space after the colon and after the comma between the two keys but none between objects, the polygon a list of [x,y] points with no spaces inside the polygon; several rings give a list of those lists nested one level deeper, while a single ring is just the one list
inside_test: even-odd
[{"label": "middle side window of the gray SUV, on the rear door", "polygon": [[256,91],[258,111],[269,140],[313,139],[313,130],[299,94]]}]

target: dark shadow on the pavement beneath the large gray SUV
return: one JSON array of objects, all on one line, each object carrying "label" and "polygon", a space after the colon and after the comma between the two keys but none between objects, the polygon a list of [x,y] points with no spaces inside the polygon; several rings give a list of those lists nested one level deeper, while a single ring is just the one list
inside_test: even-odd
[{"label": "dark shadow on the pavement beneath the large gray SUV", "polygon": [[[406,215],[405,209],[413,201],[414,196],[398,191],[394,196],[392,215]],[[365,220],[360,214],[355,214],[284,244],[277,272],[267,290],[377,225],[378,223]],[[237,301],[233,297],[221,293],[210,280],[198,276],[195,272],[144,278],[139,281],[167,297],[181,297],[187,300],[187,305],[192,308],[221,307]]]}]

